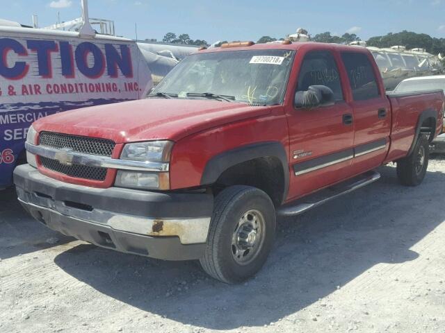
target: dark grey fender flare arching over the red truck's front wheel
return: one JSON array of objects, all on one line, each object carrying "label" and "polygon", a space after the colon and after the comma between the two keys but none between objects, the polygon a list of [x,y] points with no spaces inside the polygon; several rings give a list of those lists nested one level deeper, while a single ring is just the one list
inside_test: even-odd
[{"label": "dark grey fender flare arching over the red truck's front wheel", "polygon": [[276,157],[280,160],[284,173],[284,193],[282,198],[282,201],[284,201],[289,191],[289,161],[281,142],[248,144],[211,157],[202,173],[201,185],[211,185],[230,167],[261,157]]}]

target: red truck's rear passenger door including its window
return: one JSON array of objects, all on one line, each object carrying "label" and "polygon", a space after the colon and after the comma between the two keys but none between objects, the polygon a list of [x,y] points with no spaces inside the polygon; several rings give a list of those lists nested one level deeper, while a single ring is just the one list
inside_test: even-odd
[{"label": "red truck's rear passenger door including its window", "polygon": [[354,110],[353,173],[380,166],[389,148],[391,105],[378,80],[378,67],[365,52],[342,52]]}]

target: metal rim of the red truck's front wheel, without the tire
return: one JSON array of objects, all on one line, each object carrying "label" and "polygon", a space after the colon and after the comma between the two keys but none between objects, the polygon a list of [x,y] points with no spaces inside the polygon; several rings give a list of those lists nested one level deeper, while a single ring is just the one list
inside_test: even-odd
[{"label": "metal rim of the red truck's front wheel, without the tire", "polygon": [[266,222],[258,210],[245,212],[234,228],[232,236],[232,255],[237,264],[248,265],[264,244]]}]

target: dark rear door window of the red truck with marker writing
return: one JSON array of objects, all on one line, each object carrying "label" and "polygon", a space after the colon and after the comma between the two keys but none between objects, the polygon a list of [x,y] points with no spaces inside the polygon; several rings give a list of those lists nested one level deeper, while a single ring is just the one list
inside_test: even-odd
[{"label": "dark rear door window of the red truck with marker writing", "polygon": [[354,101],[365,101],[380,96],[377,79],[369,58],[364,53],[341,53],[348,72]]}]

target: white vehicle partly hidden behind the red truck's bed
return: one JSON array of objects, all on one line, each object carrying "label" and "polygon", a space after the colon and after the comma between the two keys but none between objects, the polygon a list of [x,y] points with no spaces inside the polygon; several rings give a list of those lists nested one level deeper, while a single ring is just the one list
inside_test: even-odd
[{"label": "white vehicle partly hidden behind the red truck's bed", "polygon": [[[407,78],[397,85],[394,93],[425,92],[433,89],[442,89],[445,92],[445,75]],[[445,118],[442,119],[442,123],[442,134],[431,142],[430,153],[445,153]]]}]

